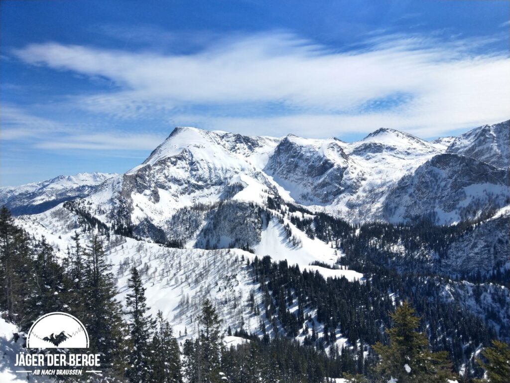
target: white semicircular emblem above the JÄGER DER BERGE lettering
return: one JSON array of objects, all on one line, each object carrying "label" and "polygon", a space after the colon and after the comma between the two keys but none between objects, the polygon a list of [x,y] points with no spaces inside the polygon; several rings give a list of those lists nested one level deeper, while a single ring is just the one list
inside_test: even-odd
[{"label": "white semicircular emblem above the J\u00c4GER DER BERGE lettering", "polygon": [[88,348],[89,334],[70,314],[49,313],[30,327],[27,348]]}]

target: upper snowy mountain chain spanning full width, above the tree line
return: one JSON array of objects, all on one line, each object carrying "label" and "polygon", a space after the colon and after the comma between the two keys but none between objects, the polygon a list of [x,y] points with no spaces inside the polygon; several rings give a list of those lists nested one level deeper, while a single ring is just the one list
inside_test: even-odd
[{"label": "upper snowy mountain chain spanning full width, above the tree line", "polygon": [[4,187],[0,203],[20,214],[85,198],[100,220],[133,226],[142,236],[152,227],[168,236],[172,216],[184,207],[263,205],[268,197],[350,222],[452,224],[509,204],[509,127],[507,121],[431,142],[381,128],[352,143],[179,127],[123,175]]}]

